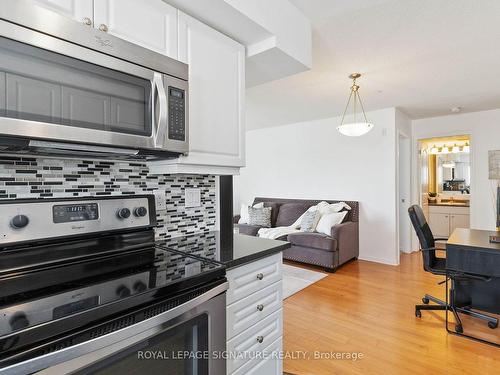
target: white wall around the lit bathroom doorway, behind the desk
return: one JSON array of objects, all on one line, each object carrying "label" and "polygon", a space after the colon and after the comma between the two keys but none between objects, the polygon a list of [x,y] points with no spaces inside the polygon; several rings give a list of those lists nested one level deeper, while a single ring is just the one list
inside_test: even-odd
[{"label": "white wall around the lit bathroom doorway, behind the desk", "polygon": [[[500,150],[500,109],[414,120],[413,155],[422,138],[470,134],[471,136],[471,228],[494,230],[496,227],[496,181],[488,180],[488,151]],[[412,176],[413,201],[418,203],[417,162]]]}]

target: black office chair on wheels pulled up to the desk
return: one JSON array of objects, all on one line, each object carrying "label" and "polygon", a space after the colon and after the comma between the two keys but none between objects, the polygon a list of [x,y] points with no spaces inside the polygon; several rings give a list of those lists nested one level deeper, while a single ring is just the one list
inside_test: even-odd
[{"label": "black office chair on wheels pulled up to the desk", "polygon": [[[420,250],[422,252],[422,258],[424,261],[424,270],[432,273],[433,275],[441,275],[446,277],[446,258],[439,258],[436,256],[436,241],[446,241],[447,238],[434,238],[432,235],[431,228],[429,224],[427,224],[427,220],[425,219],[424,212],[422,208],[418,205],[413,205],[408,209],[408,214],[410,215],[411,223],[413,224],[413,228],[415,228],[415,232],[417,233],[418,240],[420,242]],[[443,250],[444,251],[444,250]],[[452,289],[453,289],[453,279],[461,278],[461,279],[480,279],[483,281],[488,281],[487,278],[482,278],[475,275],[451,275],[452,278]],[[439,284],[445,283],[446,280],[440,282]],[[450,300],[453,298],[453,293],[450,291]],[[436,305],[430,305],[429,302],[432,301],[436,303]],[[463,313],[466,315],[470,315],[488,322],[488,327],[496,328],[498,327],[498,319],[488,316],[486,314],[478,313],[476,311],[471,310],[468,306],[460,306],[455,307],[454,303],[449,305],[446,304],[445,301],[440,300],[434,296],[426,294],[422,298],[423,305],[415,305],[415,316],[420,318],[422,316],[421,310],[450,310],[453,312],[455,317],[455,331],[463,332],[462,321],[458,313]]]}]

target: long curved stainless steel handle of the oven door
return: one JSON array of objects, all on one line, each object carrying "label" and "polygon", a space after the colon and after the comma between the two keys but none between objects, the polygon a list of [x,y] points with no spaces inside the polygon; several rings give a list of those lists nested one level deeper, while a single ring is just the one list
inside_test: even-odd
[{"label": "long curved stainless steel handle of the oven door", "polygon": [[[4,368],[0,368],[2,375],[15,375],[15,374],[31,374],[51,366],[55,366],[66,361],[70,361],[77,357],[92,353],[96,350],[106,348],[117,342],[130,339],[137,336],[137,340],[141,341],[141,333],[151,330],[165,322],[168,322],[176,317],[196,308],[197,306],[207,302],[208,300],[224,293],[228,289],[228,282],[224,282],[210,289],[198,297],[193,298],[171,310],[165,311],[161,314],[153,316],[149,319],[143,320],[137,324],[125,327],[118,331],[108,333],[107,335],[97,337],[95,339],[69,346],[67,348],[58,350],[53,353],[45,354],[36,358],[28,359],[27,361],[16,363]],[[135,337],[134,337],[135,338]]]}]

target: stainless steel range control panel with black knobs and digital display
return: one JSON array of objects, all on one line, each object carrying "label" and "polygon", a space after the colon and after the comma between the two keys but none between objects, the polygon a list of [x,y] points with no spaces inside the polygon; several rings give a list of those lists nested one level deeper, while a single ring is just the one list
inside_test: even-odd
[{"label": "stainless steel range control panel with black knobs and digital display", "polygon": [[156,225],[154,195],[0,202],[0,246]]}]

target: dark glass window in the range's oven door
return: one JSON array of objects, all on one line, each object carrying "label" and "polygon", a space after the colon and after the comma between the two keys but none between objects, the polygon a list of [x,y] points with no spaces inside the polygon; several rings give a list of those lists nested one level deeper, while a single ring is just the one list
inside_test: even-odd
[{"label": "dark glass window in the range's oven door", "polygon": [[73,374],[208,375],[208,350],[203,314]]}]

